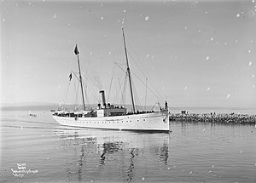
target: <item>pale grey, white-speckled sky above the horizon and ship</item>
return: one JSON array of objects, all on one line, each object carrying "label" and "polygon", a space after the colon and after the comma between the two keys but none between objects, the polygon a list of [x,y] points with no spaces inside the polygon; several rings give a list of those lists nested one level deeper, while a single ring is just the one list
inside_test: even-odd
[{"label": "pale grey, white-speckled sky above the horizon and ship", "polygon": [[81,101],[76,44],[85,102],[131,103],[124,27],[137,104],[256,107],[255,1],[2,0],[0,103]]}]

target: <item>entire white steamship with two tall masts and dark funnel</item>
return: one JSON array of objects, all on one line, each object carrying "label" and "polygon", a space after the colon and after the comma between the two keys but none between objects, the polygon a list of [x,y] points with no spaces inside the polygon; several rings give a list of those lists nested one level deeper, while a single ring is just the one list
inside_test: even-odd
[{"label": "entire white steamship with two tall masts and dark funnel", "polygon": [[[123,31],[124,45],[125,33]],[[84,104],[83,83],[79,64],[79,49],[75,46],[74,53],[78,58],[79,65],[79,83],[81,84],[82,99]],[[159,111],[139,112],[135,109],[133,90],[131,87],[131,71],[128,62],[128,56],[125,45],[125,60],[127,66],[127,75],[130,83],[130,93],[132,102],[132,112],[127,112],[127,108],[120,106],[114,107],[106,103],[104,90],[102,94],[102,104],[99,104],[95,110],[83,111],[58,111],[53,113],[53,118],[57,123],[65,126],[82,127],[89,129],[117,129],[117,130],[137,130],[137,131],[164,131],[169,132],[169,109],[167,102]]]}]

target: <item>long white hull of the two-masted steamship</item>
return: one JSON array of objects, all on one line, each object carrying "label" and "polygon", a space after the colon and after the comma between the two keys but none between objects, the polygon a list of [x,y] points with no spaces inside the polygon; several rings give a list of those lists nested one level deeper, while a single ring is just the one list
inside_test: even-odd
[{"label": "long white hull of the two-masted steamship", "polygon": [[90,129],[169,131],[168,110],[114,117],[61,117],[55,121],[65,126]]}]

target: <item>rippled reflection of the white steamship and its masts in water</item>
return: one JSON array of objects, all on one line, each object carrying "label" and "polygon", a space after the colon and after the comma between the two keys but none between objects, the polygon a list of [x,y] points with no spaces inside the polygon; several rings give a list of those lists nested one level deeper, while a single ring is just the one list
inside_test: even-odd
[{"label": "rippled reflection of the white steamship and its masts in water", "polygon": [[167,165],[169,134],[96,129],[56,129],[67,151],[68,181],[134,182],[147,166]]}]

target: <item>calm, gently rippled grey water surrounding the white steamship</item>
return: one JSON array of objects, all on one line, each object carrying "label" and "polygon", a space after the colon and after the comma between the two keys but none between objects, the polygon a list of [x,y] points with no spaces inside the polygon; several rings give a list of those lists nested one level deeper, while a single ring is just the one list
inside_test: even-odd
[{"label": "calm, gently rippled grey water surrounding the white steamship", "polygon": [[254,125],[171,123],[171,134],[145,134],[35,113],[1,114],[1,182],[256,182]]}]

